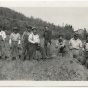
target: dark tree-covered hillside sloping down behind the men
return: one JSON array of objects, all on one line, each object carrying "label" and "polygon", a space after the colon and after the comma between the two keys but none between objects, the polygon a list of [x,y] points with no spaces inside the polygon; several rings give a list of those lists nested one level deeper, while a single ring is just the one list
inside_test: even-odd
[{"label": "dark tree-covered hillside sloping down behind the men", "polygon": [[2,26],[3,30],[7,30],[7,34],[12,31],[13,26],[17,26],[22,34],[27,25],[37,27],[41,36],[44,31],[44,26],[49,26],[50,30],[52,30],[53,38],[57,38],[58,34],[61,33],[66,39],[70,39],[74,33],[72,25],[66,24],[65,26],[56,26],[40,18],[34,18],[33,16],[26,17],[22,13],[9,8],[0,7],[0,26]]}]

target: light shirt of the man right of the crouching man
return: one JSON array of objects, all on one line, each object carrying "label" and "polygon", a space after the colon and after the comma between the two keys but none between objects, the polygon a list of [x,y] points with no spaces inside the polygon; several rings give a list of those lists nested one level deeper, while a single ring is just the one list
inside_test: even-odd
[{"label": "light shirt of the man right of the crouching man", "polygon": [[80,49],[82,48],[82,41],[80,39],[75,40],[74,38],[69,41],[70,49]]}]

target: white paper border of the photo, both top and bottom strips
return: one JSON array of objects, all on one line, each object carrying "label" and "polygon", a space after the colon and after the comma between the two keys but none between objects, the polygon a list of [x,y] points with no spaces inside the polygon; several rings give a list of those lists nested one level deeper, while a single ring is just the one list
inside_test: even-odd
[{"label": "white paper border of the photo, both top and bottom strips", "polygon": [[[88,1],[0,0],[1,7],[88,7]],[[0,81],[0,86],[88,86],[87,81]]]}]

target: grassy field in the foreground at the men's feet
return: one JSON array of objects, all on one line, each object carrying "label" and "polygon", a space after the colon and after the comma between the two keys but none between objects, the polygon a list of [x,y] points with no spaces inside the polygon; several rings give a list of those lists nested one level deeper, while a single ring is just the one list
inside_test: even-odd
[{"label": "grassy field in the foreground at the men's feet", "polygon": [[[7,40],[8,41],[8,40]],[[55,40],[52,40],[55,44]],[[41,41],[43,45],[43,41]],[[12,61],[0,60],[0,80],[30,80],[30,81],[77,81],[88,80],[88,70],[76,59],[70,58],[69,53],[64,57],[55,56],[55,45],[51,45],[51,55],[53,58],[47,60],[25,60]],[[10,56],[8,42],[5,52]],[[39,52],[36,59],[40,58]]]}]

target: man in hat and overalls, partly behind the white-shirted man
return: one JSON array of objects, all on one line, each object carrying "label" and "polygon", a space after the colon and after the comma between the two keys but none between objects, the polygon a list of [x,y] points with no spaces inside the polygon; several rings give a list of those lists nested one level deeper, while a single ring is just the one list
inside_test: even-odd
[{"label": "man in hat and overalls, partly behind the white-shirted man", "polygon": [[23,41],[23,60],[29,59],[28,55],[28,49],[29,49],[29,42],[28,42],[28,36],[32,33],[32,27],[26,26],[26,31],[24,31],[22,35],[22,41]]}]

